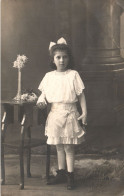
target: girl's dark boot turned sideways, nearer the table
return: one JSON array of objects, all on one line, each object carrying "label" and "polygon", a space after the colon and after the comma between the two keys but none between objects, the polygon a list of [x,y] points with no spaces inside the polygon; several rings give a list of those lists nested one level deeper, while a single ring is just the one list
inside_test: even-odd
[{"label": "girl's dark boot turned sideways, nearer the table", "polygon": [[57,175],[47,182],[47,185],[59,184],[66,182],[66,172],[64,169],[57,170]]}]

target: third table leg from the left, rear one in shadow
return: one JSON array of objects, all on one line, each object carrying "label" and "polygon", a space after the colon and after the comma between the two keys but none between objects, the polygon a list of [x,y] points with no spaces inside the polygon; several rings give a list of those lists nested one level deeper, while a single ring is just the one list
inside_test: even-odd
[{"label": "third table leg from the left, rear one in shadow", "polygon": [[30,127],[27,129],[27,136],[29,138],[28,140],[28,149],[27,149],[27,177],[31,177],[31,172],[30,172],[30,162],[31,162],[31,130]]}]

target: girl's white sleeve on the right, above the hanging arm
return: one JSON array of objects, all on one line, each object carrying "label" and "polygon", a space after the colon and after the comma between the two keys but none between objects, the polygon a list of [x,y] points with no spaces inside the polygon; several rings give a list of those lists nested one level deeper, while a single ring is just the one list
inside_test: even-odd
[{"label": "girl's white sleeve on the right, above the hanging arm", "polygon": [[85,89],[84,83],[77,71],[75,72],[74,88],[77,96],[79,96],[82,93],[83,89]]}]

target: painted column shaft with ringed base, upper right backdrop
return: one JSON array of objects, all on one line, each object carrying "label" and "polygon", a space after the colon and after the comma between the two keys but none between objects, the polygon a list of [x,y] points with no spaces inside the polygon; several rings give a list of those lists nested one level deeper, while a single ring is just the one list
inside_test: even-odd
[{"label": "painted column shaft with ringed base, upper right backdrop", "polygon": [[[87,0],[87,49],[83,64],[90,70],[123,67],[120,56],[121,7],[115,0]],[[85,67],[85,66],[84,66]]]}]

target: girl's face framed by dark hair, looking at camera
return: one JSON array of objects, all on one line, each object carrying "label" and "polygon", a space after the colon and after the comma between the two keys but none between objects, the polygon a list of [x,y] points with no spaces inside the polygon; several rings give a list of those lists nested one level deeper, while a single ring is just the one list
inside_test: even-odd
[{"label": "girl's face framed by dark hair, looking at camera", "polygon": [[58,50],[54,54],[53,62],[56,65],[57,71],[66,71],[69,63],[69,56],[65,51]]}]

